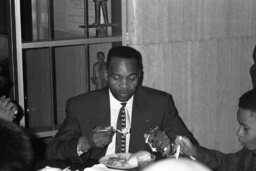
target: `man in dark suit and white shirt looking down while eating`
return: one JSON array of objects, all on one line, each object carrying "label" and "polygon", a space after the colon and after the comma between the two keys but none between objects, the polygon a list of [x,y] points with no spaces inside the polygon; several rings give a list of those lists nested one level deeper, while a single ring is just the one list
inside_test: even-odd
[{"label": "man in dark suit and white shirt looking down while eating", "polygon": [[153,153],[144,136],[154,126],[160,131],[149,141],[160,152],[177,135],[188,136],[197,143],[178,116],[172,96],[140,85],[140,52],[127,46],[113,47],[108,53],[107,68],[107,87],[68,100],[66,119],[47,148],[49,159],[87,162],[116,153],[117,118],[122,102],[126,104],[128,130],[123,132],[125,152]]}]

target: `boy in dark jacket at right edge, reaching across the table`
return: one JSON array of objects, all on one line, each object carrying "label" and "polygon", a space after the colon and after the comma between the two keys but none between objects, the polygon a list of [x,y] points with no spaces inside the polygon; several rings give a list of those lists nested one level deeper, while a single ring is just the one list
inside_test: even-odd
[{"label": "boy in dark jacket at right edge, reaching across the table", "polygon": [[255,171],[256,170],[256,90],[250,90],[239,99],[237,111],[239,129],[237,136],[243,148],[230,154],[194,146],[186,137],[177,137],[175,142],[181,151],[194,156],[198,161],[215,170]]}]

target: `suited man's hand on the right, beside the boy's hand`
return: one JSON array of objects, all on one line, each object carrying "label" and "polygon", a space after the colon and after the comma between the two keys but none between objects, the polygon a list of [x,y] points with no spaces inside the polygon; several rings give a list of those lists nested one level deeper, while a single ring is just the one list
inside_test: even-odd
[{"label": "suited man's hand on the right, beside the boy's hand", "polygon": [[156,151],[163,155],[166,151],[166,147],[170,145],[170,139],[165,131],[158,130],[152,134],[144,134],[144,138],[147,138],[147,143],[150,144],[152,148],[156,148]]}]

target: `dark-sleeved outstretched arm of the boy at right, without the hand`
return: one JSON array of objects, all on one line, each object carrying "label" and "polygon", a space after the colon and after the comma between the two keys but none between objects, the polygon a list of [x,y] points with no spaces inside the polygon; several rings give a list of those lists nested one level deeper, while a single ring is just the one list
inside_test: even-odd
[{"label": "dark-sleeved outstretched arm of the boy at right, without the hand", "polygon": [[196,159],[202,162],[211,169],[218,170],[237,170],[239,159],[242,156],[243,150],[237,153],[225,154],[217,150],[207,149],[197,146]]}]

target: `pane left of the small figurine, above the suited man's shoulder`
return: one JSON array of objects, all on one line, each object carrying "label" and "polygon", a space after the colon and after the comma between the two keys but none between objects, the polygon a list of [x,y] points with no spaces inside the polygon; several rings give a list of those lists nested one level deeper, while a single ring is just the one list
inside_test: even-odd
[{"label": "pane left of the small figurine, above the suited man's shoulder", "polygon": [[55,48],[57,123],[66,117],[67,99],[88,91],[87,46]]}]

